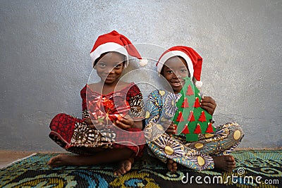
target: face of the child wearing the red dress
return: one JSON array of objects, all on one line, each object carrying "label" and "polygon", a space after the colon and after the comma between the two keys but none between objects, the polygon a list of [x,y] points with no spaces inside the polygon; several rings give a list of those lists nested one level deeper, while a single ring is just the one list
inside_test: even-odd
[{"label": "face of the child wearing the red dress", "polygon": [[105,84],[113,84],[118,81],[123,72],[124,61],[125,56],[112,51],[103,54],[94,68],[96,68],[97,74]]}]

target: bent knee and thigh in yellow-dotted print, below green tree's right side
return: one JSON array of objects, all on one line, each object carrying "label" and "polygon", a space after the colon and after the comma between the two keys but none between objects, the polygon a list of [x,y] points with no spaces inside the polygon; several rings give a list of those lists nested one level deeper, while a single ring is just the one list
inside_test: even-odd
[{"label": "bent knee and thigh in yellow-dotted print, below green tree's right side", "polygon": [[226,123],[216,127],[214,134],[203,134],[198,142],[185,144],[209,156],[228,155],[240,144],[244,133],[237,123]]}]

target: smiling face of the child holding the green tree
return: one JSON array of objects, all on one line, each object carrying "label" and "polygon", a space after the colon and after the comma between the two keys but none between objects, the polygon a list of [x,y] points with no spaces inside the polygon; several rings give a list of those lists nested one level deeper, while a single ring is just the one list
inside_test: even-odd
[{"label": "smiling face of the child holding the green tree", "polygon": [[163,75],[169,82],[174,93],[179,93],[185,84],[183,77],[190,77],[186,61],[184,58],[178,56],[169,58],[164,63],[164,67],[161,70],[161,75]]}]

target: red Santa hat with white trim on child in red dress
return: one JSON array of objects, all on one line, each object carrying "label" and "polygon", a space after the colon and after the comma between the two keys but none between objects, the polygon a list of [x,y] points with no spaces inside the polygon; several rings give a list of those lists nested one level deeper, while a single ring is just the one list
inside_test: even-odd
[{"label": "red Santa hat with white trim on child in red dress", "polygon": [[140,65],[147,65],[147,59],[143,59],[135,46],[124,35],[119,34],[115,30],[104,35],[100,35],[96,40],[92,50],[90,51],[90,57],[92,65],[102,54],[110,51],[116,51],[126,56],[125,68],[128,66],[128,55],[134,56],[140,60]]}]

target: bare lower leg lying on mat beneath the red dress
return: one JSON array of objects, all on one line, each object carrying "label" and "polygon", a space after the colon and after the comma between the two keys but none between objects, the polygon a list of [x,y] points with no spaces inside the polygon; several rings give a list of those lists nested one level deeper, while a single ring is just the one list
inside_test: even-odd
[{"label": "bare lower leg lying on mat beneath the red dress", "polygon": [[114,163],[116,161],[122,161],[130,158],[133,155],[133,151],[128,148],[122,149],[106,149],[92,156],[69,156],[61,154],[50,159],[48,165],[52,167],[58,167],[62,165],[97,165],[102,163]]}]

